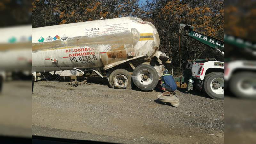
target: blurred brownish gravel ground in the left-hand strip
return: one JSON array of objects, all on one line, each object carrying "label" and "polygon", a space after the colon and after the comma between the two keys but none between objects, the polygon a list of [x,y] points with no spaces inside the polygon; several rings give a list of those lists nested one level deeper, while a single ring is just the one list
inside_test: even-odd
[{"label": "blurred brownish gravel ground in the left-hand strip", "polygon": [[4,82],[0,94],[0,136],[31,137],[31,81]]}]

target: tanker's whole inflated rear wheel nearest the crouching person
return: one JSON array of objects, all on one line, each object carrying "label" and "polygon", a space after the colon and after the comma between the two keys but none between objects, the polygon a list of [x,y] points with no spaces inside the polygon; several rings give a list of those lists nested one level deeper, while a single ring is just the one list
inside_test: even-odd
[{"label": "tanker's whole inflated rear wheel nearest the crouching person", "polygon": [[156,87],[159,76],[155,68],[149,65],[139,65],[133,71],[132,80],[139,89],[149,91]]}]

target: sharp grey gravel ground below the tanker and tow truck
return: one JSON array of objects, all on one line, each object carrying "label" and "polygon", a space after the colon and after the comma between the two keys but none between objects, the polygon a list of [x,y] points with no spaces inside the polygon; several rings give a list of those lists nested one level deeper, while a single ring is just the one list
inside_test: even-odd
[{"label": "sharp grey gravel ground below the tanker and tow truck", "polygon": [[116,143],[224,143],[224,101],[179,89],[180,107],[160,92],[38,81],[32,94],[32,134]]}]

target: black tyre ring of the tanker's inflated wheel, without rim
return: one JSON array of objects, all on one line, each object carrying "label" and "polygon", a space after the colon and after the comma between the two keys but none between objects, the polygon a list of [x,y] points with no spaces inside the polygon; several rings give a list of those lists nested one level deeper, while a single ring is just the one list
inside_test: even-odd
[{"label": "black tyre ring of the tanker's inflated wheel, without rim", "polygon": [[[153,75],[153,78],[152,78],[152,82],[150,84],[142,84],[140,82],[140,80],[138,79],[138,75],[140,73],[141,70],[148,70],[149,72],[152,73]],[[156,69],[151,67],[150,65],[139,65],[138,67],[136,67],[133,71],[133,74],[132,74],[132,80],[133,80],[133,83],[141,90],[143,91],[149,91],[149,90],[152,90],[156,87],[156,85],[158,84],[158,80],[159,80],[159,76],[156,72]]]}]

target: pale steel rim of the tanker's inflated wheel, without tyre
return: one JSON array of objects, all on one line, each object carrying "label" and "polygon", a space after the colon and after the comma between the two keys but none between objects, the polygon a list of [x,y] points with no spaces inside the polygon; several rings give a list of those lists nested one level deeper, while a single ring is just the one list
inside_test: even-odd
[{"label": "pale steel rim of the tanker's inflated wheel, without tyre", "polygon": [[138,80],[140,84],[149,85],[153,82],[154,76],[152,72],[147,69],[142,69],[138,73]]}]

